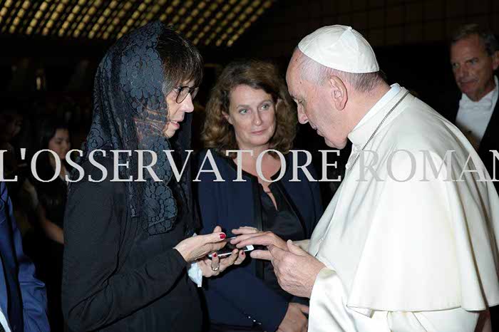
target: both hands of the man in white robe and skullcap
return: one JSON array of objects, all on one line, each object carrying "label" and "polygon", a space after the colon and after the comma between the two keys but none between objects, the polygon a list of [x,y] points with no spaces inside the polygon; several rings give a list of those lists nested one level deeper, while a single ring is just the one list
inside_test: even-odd
[{"label": "both hands of the man in white robe and skullcap", "polygon": [[289,294],[310,298],[315,279],[325,265],[314,256],[293,244],[284,242],[272,232],[259,232],[254,227],[232,229],[237,237],[230,243],[237,248],[247,245],[260,245],[267,250],[254,250],[251,257],[272,262],[279,285]]}]

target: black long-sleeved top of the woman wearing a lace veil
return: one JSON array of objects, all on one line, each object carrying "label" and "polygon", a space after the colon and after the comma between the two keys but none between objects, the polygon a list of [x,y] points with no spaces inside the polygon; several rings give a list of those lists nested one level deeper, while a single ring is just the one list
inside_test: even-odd
[{"label": "black long-sleeved top of the woman wearing a lace veil", "polygon": [[[96,161],[112,172],[112,158]],[[101,175],[90,162],[83,170],[94,179]],[[200,331],[197,289],[173,249],[185,238],[185,220],[150,236],[127,207],[123,182],[82,180],[70,187],[62,287],[70,331]]]}]

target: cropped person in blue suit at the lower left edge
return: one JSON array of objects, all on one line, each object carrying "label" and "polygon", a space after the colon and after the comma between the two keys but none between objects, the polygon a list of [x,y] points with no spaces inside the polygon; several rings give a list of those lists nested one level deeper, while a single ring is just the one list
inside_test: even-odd
[{"label": "cropped person in blue suit at the lower left edge", "polygon": [[24,255],[11,199],[0,182],[0,331],[50,331],[45,285]]}]

